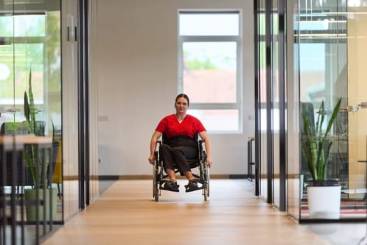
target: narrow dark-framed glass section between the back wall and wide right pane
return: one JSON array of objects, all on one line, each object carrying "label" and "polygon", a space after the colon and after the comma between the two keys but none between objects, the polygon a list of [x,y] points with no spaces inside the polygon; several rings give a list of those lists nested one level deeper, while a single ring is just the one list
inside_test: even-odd
[{"label": "narrow dark-framed glass section between the back wall and wide right pane", "polygon": [[[280,66],[278,6],[283,1],[257,1],[257,147],[259,159],[259,195],[279,209],[285,209],[284,113],[280,113],[285,86],[284,64]],[[283,74],[284,75],[284,74]],[[282,78],[282,80],[280,80]],[[284,106],[282,105],[282,108]],[[283,122],[280,125],[280,122]],[[282,134],[282,135],[281,135]],[[283,137],[283,138],[282,138]],[[280,143],[282,141],[282,143]],[[281,146],[282,144],[282,146]],[[283,150],[282,150],[283,149]],[[282,158],[282,160],[281,160]],[[282,180],[281,180],[282,176]],[[282,186],[283,185],[283,186]]]}]

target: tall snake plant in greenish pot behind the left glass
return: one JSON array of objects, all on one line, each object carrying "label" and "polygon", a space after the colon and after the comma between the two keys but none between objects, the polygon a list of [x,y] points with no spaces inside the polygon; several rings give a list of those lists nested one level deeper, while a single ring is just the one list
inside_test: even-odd
[{"label": "tall snake plant in greenish pot behind the left glass", "polygon": [[[45,123],[36,120],[38,109],[34,106],[34,97],[31,85],[31,70],[29,71],[29,90],[24,92],[24,116],[26,118],[25,124],[29,134],[34,134],[39,137],[45,136]],[[26,206],[27,221],[36,221],[36,196],[38,193],[39,200],[45,204],[46,220],[50,221],[50,205],[52,204],[52,220],[56,217],[56,190],[49,190],[52,172],[53,159],[57,155],[58,141],[55,141],[55,127],[52,123],[52,153],[51,151],[43,151],[36,144],[28,144],[24,146],[24,162],[27,164],[27,169],[33,181],[33,188],[24,190],[24,197],[29,201],[30,205]],[[56,152],[55,150],[56,149]],[[50,158],[52,156],[52,158]],[[45,165],[45,166],[44,166]],[[44,190],[48,189],[45,191]],[[50,204],[50,193],[52,193],[52,201]],[[38,205],[38,220],[43,221],[43,204]]]}]

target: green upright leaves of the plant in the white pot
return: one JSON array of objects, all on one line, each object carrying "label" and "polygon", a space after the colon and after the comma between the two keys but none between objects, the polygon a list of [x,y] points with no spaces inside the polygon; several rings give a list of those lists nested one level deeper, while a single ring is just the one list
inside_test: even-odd
[{"label": "green upright leaves of the plant in the white pot", "polygon": [[322,130],[326,115],[324,101],[322,101],[319,108],[315,125],[311,125],[305,111],[302,112],[302,154],[308,164],[313,180],[325,180],[327,178],[327,165],[329,162],[331,145],[333,144],[327,137],[338,115],[340,103],[341,99],[336,103],[324,132]]}]

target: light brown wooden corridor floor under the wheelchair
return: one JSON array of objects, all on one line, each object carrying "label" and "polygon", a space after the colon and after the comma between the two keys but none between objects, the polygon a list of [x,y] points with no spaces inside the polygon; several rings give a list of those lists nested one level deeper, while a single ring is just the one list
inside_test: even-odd
[{"label": "light brown wooden corridor floor under the wheelchair", "polygon": [[204,202],[200,190],[185,193],[179,180],[180,193],[162,191],[154,202],[152,181],[117,181],[43,244],[334,244],[259,200],[248,183],[211,180]]}]

